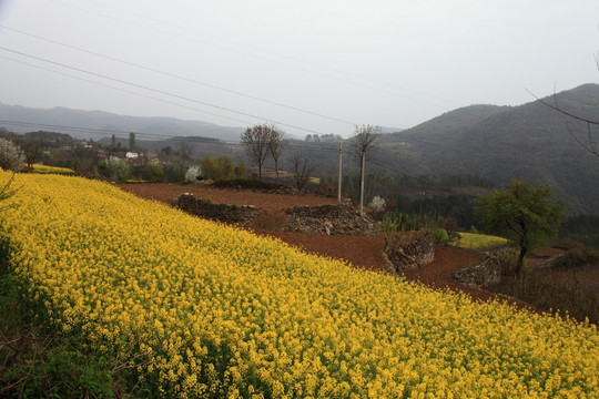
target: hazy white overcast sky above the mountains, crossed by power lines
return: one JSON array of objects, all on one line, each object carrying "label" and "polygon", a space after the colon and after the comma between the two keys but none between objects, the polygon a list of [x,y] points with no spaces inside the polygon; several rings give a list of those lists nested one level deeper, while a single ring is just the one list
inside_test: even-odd
[{"label": "hazy white overcast sky above the mountains, crossed by power lines", "polygon": [[288,133],[599,81],[597,0],[0,0],[0,102]]}]

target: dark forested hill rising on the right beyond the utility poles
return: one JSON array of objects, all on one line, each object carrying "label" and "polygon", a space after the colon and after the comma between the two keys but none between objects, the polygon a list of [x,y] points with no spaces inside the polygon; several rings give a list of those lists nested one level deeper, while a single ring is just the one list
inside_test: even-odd
[{"label": "dark forested hill rising on the right beyond the utility poles", "polygon": [[[599,85],[558,93],[564,110],[599,121]],[[554,103],[552,96],[545,99]],[[388,134],[382,154],[405,173],[474,173],[499,184],[511,178],[551,185],[573,213],[599,214],[599,157],[570,135],[588,140],[588,126],[542,105],[473,105],[448,112],[413,129]],[[591,127],[599,143],[599,129]]]}]

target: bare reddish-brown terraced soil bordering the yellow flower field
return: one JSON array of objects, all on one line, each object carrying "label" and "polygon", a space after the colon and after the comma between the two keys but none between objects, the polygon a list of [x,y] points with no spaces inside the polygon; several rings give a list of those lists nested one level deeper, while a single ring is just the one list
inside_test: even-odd
[{"label": "bare reddish-brown terraced soil bordering the yellow flower field", "polygon": [[[179,184],[122,184],[122,190],[149,200],[170,203],[183,193],[210,200],[215,203],[254,205],[273,214],[282,208],[302,205],[336,204],[336,200],[314,195],[284,195],[265,194],[250,191],[220,190],[197,185]],[[274,221],[273,223],[276,223]],[[281,241],[303,248],[308,253],[316,253],[332,258],[345,259],[354,266],[370,270],[387,272],[387,263],[383,256],[385,238],[375,236],[348,235],[318,235],[305,233],[276,232],[274,229],[260,229],[257,234],[277,237]],[[451,282],[451,273],[470,267],[480,262],[478,254],[467,249],[436,246],[435,262],[430,265],[405,273],[405,277],[418,280],[429,287],[449,288],[469,294],[477,299],[493,299],[497,295],[459,285]],[[519,304],[519,306],[522,306]]]}]

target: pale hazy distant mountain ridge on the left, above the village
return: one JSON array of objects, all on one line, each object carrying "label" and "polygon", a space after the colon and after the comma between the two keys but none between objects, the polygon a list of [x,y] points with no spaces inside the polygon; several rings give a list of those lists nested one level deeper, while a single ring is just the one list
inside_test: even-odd
[{"label": "pale hazy distant mountain ridge on the left, above the village", "polygon": [[[244,132],[243,127],[220,126],[200,121],[156,116],[128,116],[103,111],[82,111],[59,106],[53,109],[30,109],[20,105],[0,104],[0,126],[16,133],[31,132],[40,130],[40,127],[2,123],[1,121],[81,127],[79,131],[77,129],[65,130],[60,127],[52,130],[69,133],[80,139],[94,140],[112,135],[111,132],[101,131],[116,131],[123,132],[122,135],[129,134],[129,132],[148,134],[149,136],[145,139],[151,139],[152,135],[162,139],[169,136],[203,136],[222,141],[240,141],[240,136]],[[50,127],[43,127],[43,130],[50,130]]]}]

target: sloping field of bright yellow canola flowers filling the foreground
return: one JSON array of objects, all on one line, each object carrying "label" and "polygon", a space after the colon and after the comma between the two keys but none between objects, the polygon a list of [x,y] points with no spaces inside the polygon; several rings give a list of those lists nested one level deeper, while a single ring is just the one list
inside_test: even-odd
[{"label": "sloping field of bright yellow canola flowers filling the foreground", "polygon": [[599,397],[593,325],[355,269],[100,182],[13,186],[1,234],[21,286],[64,334],[143,356],[164,396]]}]

